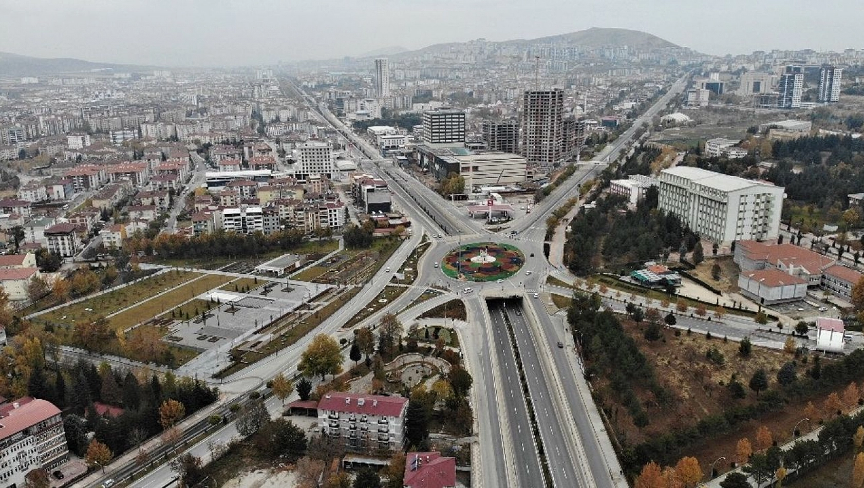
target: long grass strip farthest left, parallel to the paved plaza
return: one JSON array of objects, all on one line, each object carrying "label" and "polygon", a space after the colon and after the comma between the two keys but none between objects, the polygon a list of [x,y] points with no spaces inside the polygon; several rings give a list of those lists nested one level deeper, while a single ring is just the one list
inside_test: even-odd
[{"label": "long grass strip farthest left, parallel to the paved plaza", "polygon": [[[201,276],[188,271],[168,271],[157,276],[150,276],[141,282],[118,288],[103,295],[94,296],[85,301],[79,301],[66,307],[60,307],[38,318],[58,324],[72,324],[75,320],[93,320],[98,316],[114,314],[125,307],[130,307],[140,301],[147,300],[181,283]],[[191,297],[187,297],[188,298]],[[91,309],[86,310],[87,308]],[[65,317],[65,318],[64,318]]]}]

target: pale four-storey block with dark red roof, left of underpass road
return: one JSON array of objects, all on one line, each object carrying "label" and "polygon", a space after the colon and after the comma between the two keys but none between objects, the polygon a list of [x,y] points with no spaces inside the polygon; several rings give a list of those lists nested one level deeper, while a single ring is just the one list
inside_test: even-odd
[{"label": "pale four-storey block with dark red roof, left of underpass road", "polygon": [[331,391],[318,402],[321,434],[353,450],[401,449],[408,399]]}]

